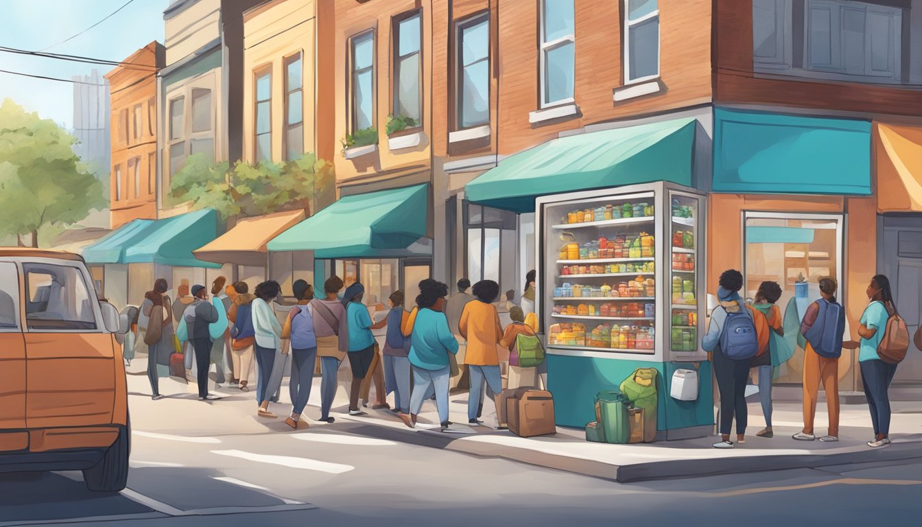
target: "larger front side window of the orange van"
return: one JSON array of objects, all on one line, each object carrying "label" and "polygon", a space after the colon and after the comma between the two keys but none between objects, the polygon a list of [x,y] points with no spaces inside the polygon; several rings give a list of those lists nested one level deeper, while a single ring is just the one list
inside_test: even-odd
[{"label": "larger front side window of the orange van", "polygon": [[23,264],[26,275],[26,324],[29,329],[96,329],[83,273],[75,267]]}]

